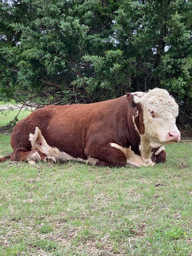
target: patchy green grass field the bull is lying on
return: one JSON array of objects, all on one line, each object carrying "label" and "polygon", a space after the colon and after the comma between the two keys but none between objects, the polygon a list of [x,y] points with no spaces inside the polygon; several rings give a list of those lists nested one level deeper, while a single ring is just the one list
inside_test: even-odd
[{"label": "patchy green grass field the bull is lying on", "polygon": [[143,168],[0,163],[0,256],[192,255],[192,143],[166,152]]}]

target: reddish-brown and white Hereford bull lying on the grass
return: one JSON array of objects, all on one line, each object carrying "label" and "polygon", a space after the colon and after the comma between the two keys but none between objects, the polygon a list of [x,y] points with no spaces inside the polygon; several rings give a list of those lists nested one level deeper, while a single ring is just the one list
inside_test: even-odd
[{"label": "reddish-brown and white Hereford bull lying on the grass", "polygon": [[73,158],[97,166],[153,166],[165,162],[165,144],[180,140],[177,115],[174,98],[158,88],[92,104],[46,106],[17,123],[11,134],[13,153],[0,161],[46,158],[29,140],[38,127],[49,147]]}]

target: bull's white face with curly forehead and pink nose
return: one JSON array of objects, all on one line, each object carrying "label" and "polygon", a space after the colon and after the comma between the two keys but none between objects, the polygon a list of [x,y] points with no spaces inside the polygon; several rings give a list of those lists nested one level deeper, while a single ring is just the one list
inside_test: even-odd
[{"label": "bull's white face with curly forehead and pink nose", "polygon": [[151,147],[179,142],[180,132],[175,124],[178,105],[169,92],[155,88],[141,98],[134,96],[134,102],[140,103],[143,109],[146,139]]}]

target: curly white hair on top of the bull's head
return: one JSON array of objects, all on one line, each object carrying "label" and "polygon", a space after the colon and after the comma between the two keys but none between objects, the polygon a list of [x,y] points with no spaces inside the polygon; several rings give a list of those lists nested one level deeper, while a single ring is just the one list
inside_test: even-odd
[{"label": "curly white hair on top of the bull's head", "polygon": [[149,90],[143,97],[134,96],[135,103],[141,103],[143,107],[154,105],[158,109],[158,113],[166,119],[167,112],[171,112],[174,117],[178,115],[178,105],[169,92],[164,89],[155,88]]}]

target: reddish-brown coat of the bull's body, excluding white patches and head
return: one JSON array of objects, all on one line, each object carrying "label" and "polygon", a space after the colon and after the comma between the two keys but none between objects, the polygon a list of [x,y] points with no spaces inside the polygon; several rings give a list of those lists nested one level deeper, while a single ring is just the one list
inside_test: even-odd
[{"label": "reddish-brown coat of the bull's body, excluding white patches and head", "polygon": [[51,147],[75,158],[91,156],[101,161],[98,165],[125,165],[124,153],[110,143],[122,147],[131,145],[132,150],[140,154],[140,137],[132,122],[136,111],[132,98],[128,101],[124,96],[93,104],[51,105],[38,109],[15,126],[11,134],[11,160],[26,157],[22,152],[31,150],[29,134],[38,126]]}]

